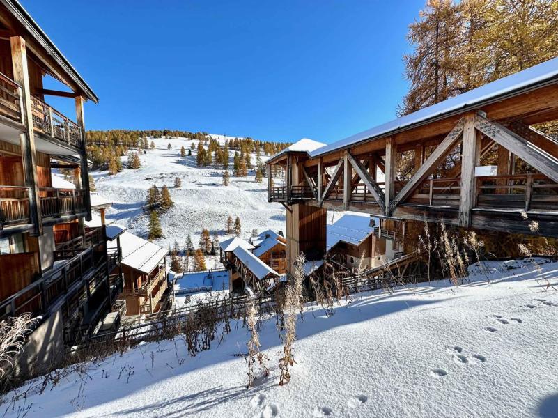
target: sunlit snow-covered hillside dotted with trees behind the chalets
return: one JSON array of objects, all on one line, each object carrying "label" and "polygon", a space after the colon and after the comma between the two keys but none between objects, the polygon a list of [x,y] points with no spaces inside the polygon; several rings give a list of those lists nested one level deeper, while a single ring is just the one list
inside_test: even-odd
[{"label": "sunlit snow-covered hillside dotted with trees behind the chalets", "polygon": [[[214,136],[224,143],[224,137]],[[228,138],[231,139],[231,138]],[[231,184],[222,185],[223,169],[196,166],[198,141],[186,138],[155,139],[155,150],[140,153],[141,168],[137,170],[123,169],[121,173],[109,176],[107,171],[92,171],[98,192],[114,202],[107,211],[107,221],[126,226],[130,232],[143,238],[147,236],[148,214],[141,206],[146,203],[147,190],[153,184],[159,189],[169,187],[175,203],[161,217],[164,238],[156,243],[169,247],[177,240],[181,247],[185,246],[188,233],[197,247],[203,228],[218,231],[219,239],[225,239],[226,219],[240,217],[242,238],[248,238],[252,229],[263,231],[274,229],[285,231],[285,210],[279,203],[268,203],[268,183],[254,180],[254,171],[248,177],[233,177],[233,155],[230,151]],[[167,145],[172,149],[168,150]],[[180,157],[180,147],[186,150],[194,144],[192,156]],[[265,161],[268,156],[261,156]],[[122,157],[123,163],[127,157]],[[256,156],[252,155],[252,162]],[[125,164],[124,164],[125,166]],[[180,177],[182,187],[174,188],[174,178]],[[278,180],[280,181],[280,180]],[[214,260],[208,261],[209,268],[217,267]]]}]

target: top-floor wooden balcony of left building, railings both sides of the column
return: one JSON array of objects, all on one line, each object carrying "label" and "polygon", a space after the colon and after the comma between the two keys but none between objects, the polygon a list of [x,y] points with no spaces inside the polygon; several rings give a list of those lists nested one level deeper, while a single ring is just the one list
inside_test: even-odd
[{"label": "top-floor wooden balcony of left building, railings both sides of the column", "polygon": [[[0,115],[24,123],[21,97],[21,86],[0,73]],[[36,132],[65,148],[82,150],[86,146],[79,125],[33,95],[31,95],[31,112],[33,128]]]}]

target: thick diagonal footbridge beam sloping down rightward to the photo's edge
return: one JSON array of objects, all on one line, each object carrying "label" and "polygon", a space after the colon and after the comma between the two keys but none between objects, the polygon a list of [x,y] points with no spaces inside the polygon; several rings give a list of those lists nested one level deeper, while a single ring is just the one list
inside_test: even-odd
[{"label": "thick diagonal footbridge beam sloping down rightward to the photo's edge", "polygon": [[534,169],[558,183],[558,160],[556,158],[548,155],[506,127],[497,122],[489,121],[483,116],[474,116],[474,127],[487,137],[494,139],[497,144],[520,157]]}]

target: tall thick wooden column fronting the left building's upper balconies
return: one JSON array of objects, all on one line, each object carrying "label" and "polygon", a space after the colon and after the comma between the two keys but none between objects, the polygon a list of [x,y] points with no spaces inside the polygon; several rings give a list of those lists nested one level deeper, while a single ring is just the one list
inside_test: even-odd
[{"label": "tall thick wooden column fronting the left building's upper balconies", "polygon": [[14,81],[20,84],[22,121],[25,132],[20,134],[25,185],[29,187],[29,214],[33,223],[32,235],[42,234],[42,214],[40,208],[39,182],[35,153],[35,133],[33,131],[33,114],[31,111],[31,85],[25,40],[21,36],[10,38],[12,49],[12,66]]}]

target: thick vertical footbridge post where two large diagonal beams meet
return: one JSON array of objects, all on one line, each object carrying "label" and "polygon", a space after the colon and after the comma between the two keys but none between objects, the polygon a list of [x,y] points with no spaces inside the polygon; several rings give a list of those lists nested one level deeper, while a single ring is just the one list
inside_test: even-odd
[{"label": "thick vertical footbridge post where two large diagonal beams meet", "polygon": [[463,150],[461,156],[461,188],[459,197],[459,225],[468,228],[471,226],[471,209],[476,198],[476,178],[474,168],[479,163],[476,159],[479,153],[476,148],[479,136],[476,135],[474,128],[474,115],[465,116],[463,126]]}]

